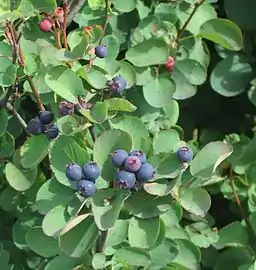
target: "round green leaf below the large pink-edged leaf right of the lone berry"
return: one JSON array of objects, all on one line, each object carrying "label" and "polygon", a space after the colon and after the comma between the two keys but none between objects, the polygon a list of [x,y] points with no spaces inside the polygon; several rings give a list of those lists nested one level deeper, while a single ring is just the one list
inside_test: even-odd
[{"label": "round green leaf below the large pink-edged leaf right of the lone berry", "polygon": [[179,202],[189,213],[204,217],[210,209],[211,197],[202,188],[187,188],[180,190]]}]

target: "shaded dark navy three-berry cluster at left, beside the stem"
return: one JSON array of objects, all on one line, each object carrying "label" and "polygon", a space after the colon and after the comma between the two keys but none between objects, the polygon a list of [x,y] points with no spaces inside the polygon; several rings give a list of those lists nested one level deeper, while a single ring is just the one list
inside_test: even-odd
[{"label": "shaded dark navy three-berry cluster at left, beside the stem", "polygon": [[33,135],[44,133],[49,140],[55,139],[59,135],[59,129],[52,124],[53,113],[51,111],[41,111],[39,116],[31,119],[27,125],[27,131]]}]

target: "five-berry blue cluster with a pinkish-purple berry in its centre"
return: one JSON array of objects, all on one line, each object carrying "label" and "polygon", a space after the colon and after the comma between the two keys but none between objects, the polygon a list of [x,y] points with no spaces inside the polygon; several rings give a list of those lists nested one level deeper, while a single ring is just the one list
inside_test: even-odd
[{"label": "five-berry blue cluster with a pinkish-purple berry in its centre", "polygon": [[129,154],[124,150],[116,150],[112,153],[112,164],[118,168],[115,180],[119,188],[131,189],[136,183],[140,185],[151,180],[155,174],[141,150],[133,150]]}]

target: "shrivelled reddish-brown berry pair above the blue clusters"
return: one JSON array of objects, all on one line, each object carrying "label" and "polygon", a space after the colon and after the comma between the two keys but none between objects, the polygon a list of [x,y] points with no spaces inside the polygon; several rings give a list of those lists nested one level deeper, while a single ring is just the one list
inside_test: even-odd
[{"label": "shrivelled reddish-brown berry pair above the blue clusters", "polygon": [[91,103],[86,103],[85,101],[81,100],[79,103],[74,104],[69,101],[61,101],[59,103],[59,113],[61,116],[65,116],[68,114],[76,114],[78,116],[82,116],[80,110],[82,109],[91,109],[92,104]]}]

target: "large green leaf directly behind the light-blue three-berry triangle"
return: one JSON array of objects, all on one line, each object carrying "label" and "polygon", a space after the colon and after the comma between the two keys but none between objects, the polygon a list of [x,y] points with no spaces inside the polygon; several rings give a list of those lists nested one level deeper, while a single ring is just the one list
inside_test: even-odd
[{"label": "large green leaf directly behind the light-blue three-berry triangle", "polygon": [[90,160],[88,152],[74,138],[61,136],[50,153],[51,168],[56,179],[65,186],[72,186],[66,177],[66,165],[71,162],[84,165]]}]

